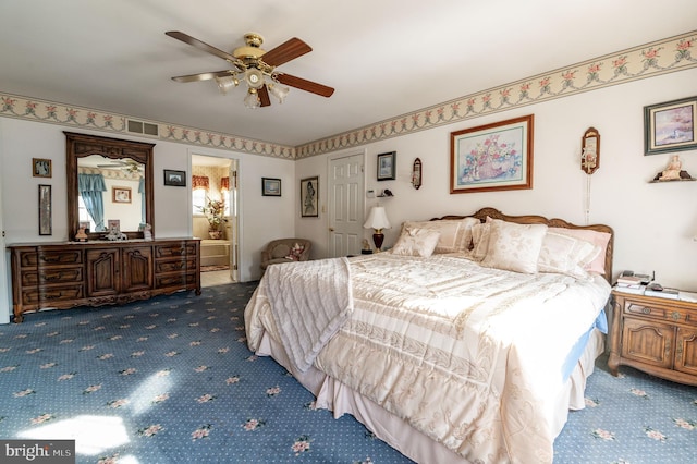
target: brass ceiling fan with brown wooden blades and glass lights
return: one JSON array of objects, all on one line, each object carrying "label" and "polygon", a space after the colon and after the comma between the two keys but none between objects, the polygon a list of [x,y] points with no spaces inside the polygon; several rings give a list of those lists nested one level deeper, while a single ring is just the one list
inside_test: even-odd
[{"label": "brass ceiling fan with brown wooden blades and glass lights", "polygon": [[322,97],[331,97],[334,93],[332,87],[277,71],[277,66],[313,51],[310,46],[296,37],[266,51],[261,48],[264,37],[256,33],[248,33],[244,35],[245,45],[243,47],[237,47],[232,53],[227,53],[179,30],[170,30],[164,34],[199,50],[222,58],[232,65],[232,69],[229,70],[176,76],[172,77],[172,81],[186,83],[216,80],[218,87],[224,95],[228,90],[240,85],[242,80],[247,85],[247,96],[244,99],[247,108],[270,106],[269,94],[278,98],[280,102],[283,102],[289,89],[281,87],[279,84],[299,88]]}]

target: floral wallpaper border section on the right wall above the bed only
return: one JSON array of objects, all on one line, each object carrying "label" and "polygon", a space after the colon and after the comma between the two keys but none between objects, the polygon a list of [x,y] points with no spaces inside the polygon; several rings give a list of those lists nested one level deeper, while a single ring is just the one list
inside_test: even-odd
[{"label": "floral wallpaper border section on the right wall above the bed only", "polygon": [[538,74],[295,148],[296,159],[697,66],[697,30]]}]

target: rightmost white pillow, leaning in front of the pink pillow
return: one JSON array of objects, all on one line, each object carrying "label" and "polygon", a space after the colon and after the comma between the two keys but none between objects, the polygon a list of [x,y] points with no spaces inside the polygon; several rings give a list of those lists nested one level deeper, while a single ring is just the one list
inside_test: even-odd
[{"label": "rightmost white pillow, leaning in front of the pink pillow", "polygon": [[584,266],[596,257],[599,249],[590,242],[552,232],[550,228],[542,240],[537,261],[538,271],[563,273],[587,280],[590,276]]}]

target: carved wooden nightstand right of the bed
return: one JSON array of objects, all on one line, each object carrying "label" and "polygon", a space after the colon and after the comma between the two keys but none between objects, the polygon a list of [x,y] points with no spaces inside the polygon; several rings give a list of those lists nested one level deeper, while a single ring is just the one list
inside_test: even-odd
[{"label": "carved wooden nightstand right of the bed", "polygon": [[697,303],[612,291],[608,367],[697,386]]}]

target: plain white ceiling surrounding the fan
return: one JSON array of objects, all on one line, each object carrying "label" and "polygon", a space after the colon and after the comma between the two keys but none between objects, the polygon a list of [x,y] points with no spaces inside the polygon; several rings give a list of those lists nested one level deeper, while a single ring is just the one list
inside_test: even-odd
[{"label": "plain white ceiling surrounding the fan", "polygon": [[[2,0],[0,19],[0,91],[296,146],[695,30],[697,1]],[[298,37],[314,50],[279,70],[337,90],[246,109],[171,81],[228,64],[167,30],[228,52]]]}]

